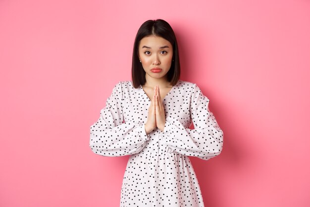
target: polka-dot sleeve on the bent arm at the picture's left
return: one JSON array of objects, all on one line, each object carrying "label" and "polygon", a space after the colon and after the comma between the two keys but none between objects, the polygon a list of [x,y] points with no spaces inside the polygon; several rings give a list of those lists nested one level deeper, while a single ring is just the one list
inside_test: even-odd
[{"label": "polka-dot sleeve on the bent arm at the picture's left", "polygon": [[140,152],[149,136],[144,123],[123,122],[122,83],[117,83],[100,112],[99,120],[90,127],[90,147],[103,156],[123,156]]}]

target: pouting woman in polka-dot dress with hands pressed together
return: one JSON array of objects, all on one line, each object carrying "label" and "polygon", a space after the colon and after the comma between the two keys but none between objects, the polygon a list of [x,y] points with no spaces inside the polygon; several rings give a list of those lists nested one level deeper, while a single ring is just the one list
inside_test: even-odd
[{"label": "pouting woman in polka-dot dress with hands pressed together", "polygon": [[144,22],[134,43],[132,81],[115,85],[90,128],[95,153],[130,155],[121,207],[204,207],[188,156],[218,155],[223,132],[200,88],[179,76],[172,28],[161,19]]}]

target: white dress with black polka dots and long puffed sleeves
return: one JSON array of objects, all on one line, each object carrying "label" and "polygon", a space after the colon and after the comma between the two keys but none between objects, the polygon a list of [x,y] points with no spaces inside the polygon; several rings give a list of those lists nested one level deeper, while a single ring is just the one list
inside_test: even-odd
[{"label": "white dress with black polka dots and long puffed sleeves", "polygon": [[[130,155],[120,207],[204,207],[188,156],[208,160],[223,147],[223,132],[208,110],[209,100],[191,82],[179,80],[164,97],[164,131],[148,135],[151,100],[131,81],[115,85],[90,128],[90,147],[103,156]],[[188,129],[193,122],[195,129]]]}]

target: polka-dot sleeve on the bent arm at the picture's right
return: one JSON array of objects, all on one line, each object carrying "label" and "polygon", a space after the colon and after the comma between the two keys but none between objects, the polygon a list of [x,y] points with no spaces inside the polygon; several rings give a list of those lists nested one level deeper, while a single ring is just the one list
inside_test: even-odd
[{"label": "polka-dot sleeve on the bent arm at the picture's right", "polygon": [[162,135],[165,143],[177,153],[208,160],[220,154],[223,132],[208,109],[209,100],[195,84],[190,113],[195,129],[184,128],[177,119],[167,117]]}]

